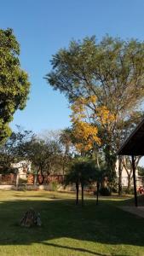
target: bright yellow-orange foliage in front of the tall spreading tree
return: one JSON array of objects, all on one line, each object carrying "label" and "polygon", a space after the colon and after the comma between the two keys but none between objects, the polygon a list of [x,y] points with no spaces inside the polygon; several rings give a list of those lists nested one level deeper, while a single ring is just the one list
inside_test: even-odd
[{"label": "bright yellow-orange foliage in front of the tall spreading tree", "polygon": [[83,154],[94,149],[94,145],[101,146],[99,127],[111,126],[115,121],[114,115],[105,106],[97,107],[94,95],[79,97],[72,103],[71,109],[72,131],[77,150]]}]

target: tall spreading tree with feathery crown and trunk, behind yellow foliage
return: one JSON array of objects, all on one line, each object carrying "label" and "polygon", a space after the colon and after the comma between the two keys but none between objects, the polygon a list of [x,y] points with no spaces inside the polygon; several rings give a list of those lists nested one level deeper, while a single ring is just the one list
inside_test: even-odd
[{"label": "tall spreading tree with feathery crown and trunk, behind yellow foliage", "polygon": [[[68,49],[53,55],[52,72],[46,79],[64,93],[70,103],[96,96],[87,104],[93,124],[98,127],[107,165],[114,167],[114,154],[125,132],[135,123],[144,97],[144,43],[135,39],[95,37],[72,41]],[[109,115],[113,119],[109,119]],[[103,119],[103,116],[105,117]],[[140,114],[141,116],[141,114]],[[119,172],[121,167],[119,165]]]}]

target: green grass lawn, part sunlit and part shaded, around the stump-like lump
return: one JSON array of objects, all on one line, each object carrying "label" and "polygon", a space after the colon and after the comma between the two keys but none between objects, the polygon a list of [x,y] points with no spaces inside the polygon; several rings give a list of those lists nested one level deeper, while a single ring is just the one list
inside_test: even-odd
[{"label": "green grass lawn, part sunlit and part shaded, around the stump-like lump", "polygon": [[[119,209],[123,199],[93,196],[75,206],[74,195],[46,191],[0,191],[0,255],[144,255],[144,218]],[[22,228],[30,207],[41,227]]]}]

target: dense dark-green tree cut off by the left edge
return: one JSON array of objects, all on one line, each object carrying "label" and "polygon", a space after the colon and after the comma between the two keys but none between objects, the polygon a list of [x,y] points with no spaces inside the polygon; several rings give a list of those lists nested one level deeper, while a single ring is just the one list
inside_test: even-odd
[{"label": "dense dark-green tree cut off by the left edge", "polygon": [[20,45],[12,29],[0,30],[0,143],[10,135],[14,112],[26,106],[30,83],[20,68]]}]

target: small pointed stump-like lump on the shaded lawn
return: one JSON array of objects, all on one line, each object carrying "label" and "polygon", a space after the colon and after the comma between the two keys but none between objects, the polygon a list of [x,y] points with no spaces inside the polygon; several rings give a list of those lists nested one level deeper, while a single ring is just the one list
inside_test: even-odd
[{"label": "small pointed stump-like lump on the shaded lawn", "polygon": [[32,208],[30,208],[21,218],[20,226],[30,228],[32,226],[41,226],[41,218],[40,213],[35,212]]}]

